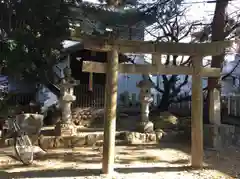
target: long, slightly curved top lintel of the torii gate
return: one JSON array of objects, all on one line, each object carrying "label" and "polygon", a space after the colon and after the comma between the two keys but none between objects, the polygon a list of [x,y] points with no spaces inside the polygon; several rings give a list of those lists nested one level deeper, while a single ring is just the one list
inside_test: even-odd
[{"label": "long, slightly curved top lintel of the torii gate", "polygon": [[219,55],[225,48],[231,46],[232,41],[221,41],[211,43],[171,43],[171,42],[154,42],[140,40],[109,40],[98,36],[86,36],[73,32],[71,39],[81,41],[85,49],[96,51],[111,51],[114,48],[121,53],[161,53],[171,55]]}]

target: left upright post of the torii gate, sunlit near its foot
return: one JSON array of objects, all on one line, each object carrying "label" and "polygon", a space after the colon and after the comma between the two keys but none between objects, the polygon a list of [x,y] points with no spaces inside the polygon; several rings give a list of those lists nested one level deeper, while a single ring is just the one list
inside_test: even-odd
[{"label": "left upright post of the torii gate, sunlit near its foot", "polygon": [[115,158],[116,107],[118,86],[118,52],[108,52],[106,88],[105,88],[105,118],[103,144],[103,174],[112,174]]}]

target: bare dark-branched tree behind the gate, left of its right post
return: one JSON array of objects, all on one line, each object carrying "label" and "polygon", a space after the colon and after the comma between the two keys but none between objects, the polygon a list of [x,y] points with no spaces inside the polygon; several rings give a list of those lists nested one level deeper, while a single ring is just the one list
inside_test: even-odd
[{"label": "bare dark-branched tree behind the gate, left of its right post", "polygon": [[[185,11],[179,8],[178,13],[172,17],[158,17],[158,22],[151,30],[147,30],[150,35],[155,37],[156,41],[179,43],[188,38],[196,24],[199,22],[188,22],[185,18]],[[203,38],[200,40],[202,41]],[[191,57],[183,57],[178,55],[165,55],[159,57],[159,60],[165,66],[189,66],[191,65]],[[155,82],[155,90],[162,94],[161,102],[158,108],[162,111],[168,110],[169,105],[173,102],[189,100],[189,91],[182,91],[183,87],[189,84],[188,75],[160,75],[162,86],[159,82]],[[151,79],[149,77],[149,79]]]}]

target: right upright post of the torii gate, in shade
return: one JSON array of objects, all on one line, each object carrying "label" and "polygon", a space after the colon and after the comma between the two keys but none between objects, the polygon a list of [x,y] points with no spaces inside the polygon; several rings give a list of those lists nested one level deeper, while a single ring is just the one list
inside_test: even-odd
[{"label": "right upright post of the torii gate, in shade", "polygon": [[193,58],[192,76],[192,167],[203,164],[203,94],[201,77],[202,59]]}]

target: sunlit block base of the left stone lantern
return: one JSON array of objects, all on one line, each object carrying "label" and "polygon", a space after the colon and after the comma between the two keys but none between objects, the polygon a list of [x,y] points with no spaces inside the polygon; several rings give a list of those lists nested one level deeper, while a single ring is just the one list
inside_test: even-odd
[{"label": "sunlit block base of the left stone lantern", "polygon": [[74,124],[58,123],[55,127],[57,136],[75,136],[77,135],[77,127]]}]

